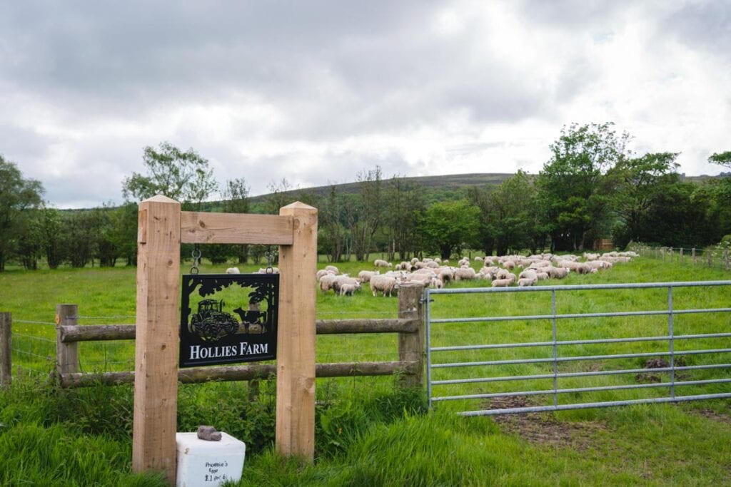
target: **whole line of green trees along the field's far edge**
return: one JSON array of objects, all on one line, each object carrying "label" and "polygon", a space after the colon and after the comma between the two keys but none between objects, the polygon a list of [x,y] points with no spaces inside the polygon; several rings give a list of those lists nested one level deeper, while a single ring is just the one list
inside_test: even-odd
[{"label": "whole line of green trees along the field's far edge", "polygon": [[[319,209],[319,252],[333,262],[368,261],[374,252],[396,260],[449,258],[466,248],[487,255],[580,251],[600,238],[613,239],[617,248],[631,241],[702,248],[731,234],[731,173],[685,181],[678,153],[637,155],[627,147],[630,139],[613,123],[565,126],[538,175],[518,171],[499,185],[466,186],[437,201],[433,190],[404,177],[385,178],[376,166],[357,173],[356,193],[331,185],[327,195],[316,196],[292,190],[283,179],[253,204],[243,177],[219,188],[207,159],[162,142],[143,149],[145,174],[124,180],[121,206],[58,210],[44,202],[38,181],[0,156],[0,271],[8,261],[26,269],[37,269],[39,261],[51,269],[135,265],[137,202],[155,194],[180,201],[183,210],[273,214],[294,197]],[[731,151],[708,160],[731,169]],[[216,194],[221,201],[211,202]],[[259,263],[265,250],[207,245],[204,257]]]}]

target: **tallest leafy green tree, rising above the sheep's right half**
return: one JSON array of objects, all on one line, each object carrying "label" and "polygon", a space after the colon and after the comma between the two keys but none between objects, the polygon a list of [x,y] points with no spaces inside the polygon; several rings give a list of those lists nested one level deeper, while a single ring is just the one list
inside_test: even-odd
[{"label": "tallest leafy green tree, rising above the sheep's right half", "polygon": [[571,126],[550,145],[553,156],[538,177],[539,204],[545,210],[553,248],[583,250],[609,231],[613,179],[609,169],[628,156],[629,134],[613,123]]}]

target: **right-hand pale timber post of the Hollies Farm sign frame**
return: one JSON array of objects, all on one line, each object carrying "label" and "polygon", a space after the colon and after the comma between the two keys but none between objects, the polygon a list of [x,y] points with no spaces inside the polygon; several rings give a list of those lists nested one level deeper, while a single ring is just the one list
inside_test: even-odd
[{"label": "right-hand pale timber post of the Hollies Farm sign frame", "polygon": [[279,215],[292,217],[292,245],[279,246],[279,326],[276,358],[276,449],[314,460],[315,301],[317,209],[295,202]]}]

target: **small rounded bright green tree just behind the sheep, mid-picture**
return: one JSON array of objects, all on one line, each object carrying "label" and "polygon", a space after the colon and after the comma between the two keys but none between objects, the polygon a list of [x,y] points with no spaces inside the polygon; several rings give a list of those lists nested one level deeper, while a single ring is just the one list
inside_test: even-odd
[{"label": "small rounded bright green tree just behind the sheep, mid-picture", "polygon": [[442,258],[450,258],[466,242],[474,242],[479,228],[480,209],[465,199],[432,204],[420,223],[425,249]]}]

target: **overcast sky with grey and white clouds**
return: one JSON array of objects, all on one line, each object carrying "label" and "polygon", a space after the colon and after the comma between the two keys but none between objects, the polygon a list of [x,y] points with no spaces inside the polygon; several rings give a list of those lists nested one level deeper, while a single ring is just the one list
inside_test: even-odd
[{"label": "overcast sky with grey and white clouds", "polygon": [[570,123],[718,174],[731,1],[3,1],[0,154],[56,207],[122,201],[169,141],[251,194],[539,172]]}]

